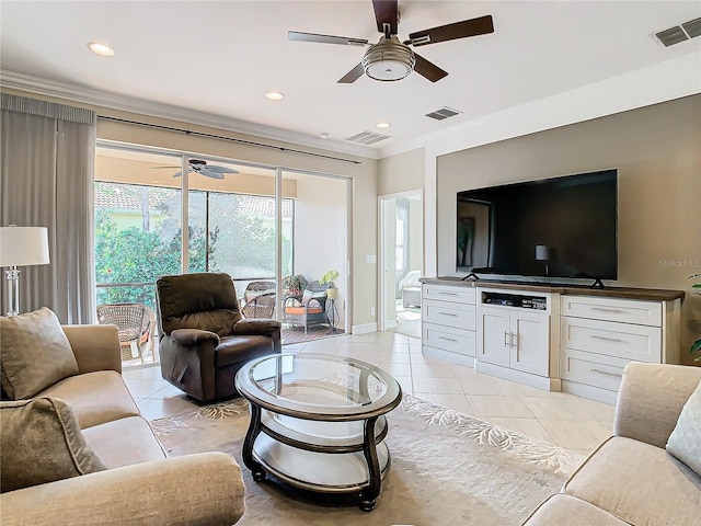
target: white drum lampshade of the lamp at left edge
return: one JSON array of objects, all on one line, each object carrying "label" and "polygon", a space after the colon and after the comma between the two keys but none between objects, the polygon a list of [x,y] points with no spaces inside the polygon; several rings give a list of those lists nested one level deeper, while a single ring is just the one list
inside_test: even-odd
[{"label": "white drum lampshade of the lamp at left edge", "polygon": [[46,227],[0,227],[0,266],[47,263],[50,262]]}]

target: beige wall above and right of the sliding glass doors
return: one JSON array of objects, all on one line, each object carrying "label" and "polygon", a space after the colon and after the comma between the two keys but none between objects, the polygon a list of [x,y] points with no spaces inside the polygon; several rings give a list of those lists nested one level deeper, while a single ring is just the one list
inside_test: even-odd
[{"label": "beige wall above and right of the sliding glass doors", "polygon": [[[186,128],[193,132],[232,137],[243,140],[264,142],[273,148],[261,148],[252,145],[243,145],[221,139],[197,137],[165,129],[156,129],[128,123],[118,123],[106,119],[97,119],[97,138],[114,140],[133,145],[143,145],[160,147],[173,150],[182,150],[202,156],[215,156],[240,161],[269,164],[272,167],[283,167],[311,172],[345,175],[353,180],[353,222],[352,222],[352,268],[353,277],[353,318],[354,325],[369,325],[375,323],[376,317],[370,316],[370,308],[377,304],[377,265],[366,263],[367,254],[377,254],[377,174],[378,161],[359,156],[336,153],[310,147],[299,147],[279,140],[254,137],[238,134],[230,130],[210,128],[206,126],[193,125],[173,119],[140,115],[131,112],[123,112],[95,104],[76,103],[59,98],[26,93],[21,90],[7,90],[3,92],[14,93],[32,99],[41,99],[59,102],[73,106],[88,107],[94,110],[99,116],[116,117],[125,121],[149,123],[158,126],[169,126],[175,128]],[[327,159],[325,157],[313,157],[302,153],[295,153],[289,149],[300,149],[321,156],[343,158],[343,160]]]}]

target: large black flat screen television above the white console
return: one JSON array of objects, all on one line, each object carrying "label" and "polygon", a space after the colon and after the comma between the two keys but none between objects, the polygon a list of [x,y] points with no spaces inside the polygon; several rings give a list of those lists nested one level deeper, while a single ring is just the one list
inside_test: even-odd
[{"label": "large black flat screen television above the white console", "polygon": [[617,193],[614,169],[459,192],[456,270],[617,279]]}]

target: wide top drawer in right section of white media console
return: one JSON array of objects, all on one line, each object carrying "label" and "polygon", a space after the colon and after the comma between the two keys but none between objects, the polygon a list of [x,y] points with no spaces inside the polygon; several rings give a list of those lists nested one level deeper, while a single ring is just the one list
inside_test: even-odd
[{"label": "wide top drawer in right section of white media console", "polygon": [[562,316],[652,327],[662,327],[663,316],[659,301],[567,295],[561,296],[560,313]]}]

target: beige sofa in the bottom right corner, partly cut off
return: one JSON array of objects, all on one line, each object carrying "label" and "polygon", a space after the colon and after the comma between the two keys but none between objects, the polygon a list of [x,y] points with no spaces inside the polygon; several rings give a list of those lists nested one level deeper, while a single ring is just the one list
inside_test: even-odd
[{"label": "beige sofa in the bottom right corner, partly cut off", "polygon": [[[701,525],[701,477],[665,449],[699,381],[701,367],[629,364],[613,436],[525,524]],[[701,442],[701,426],[696,441]]]}]

